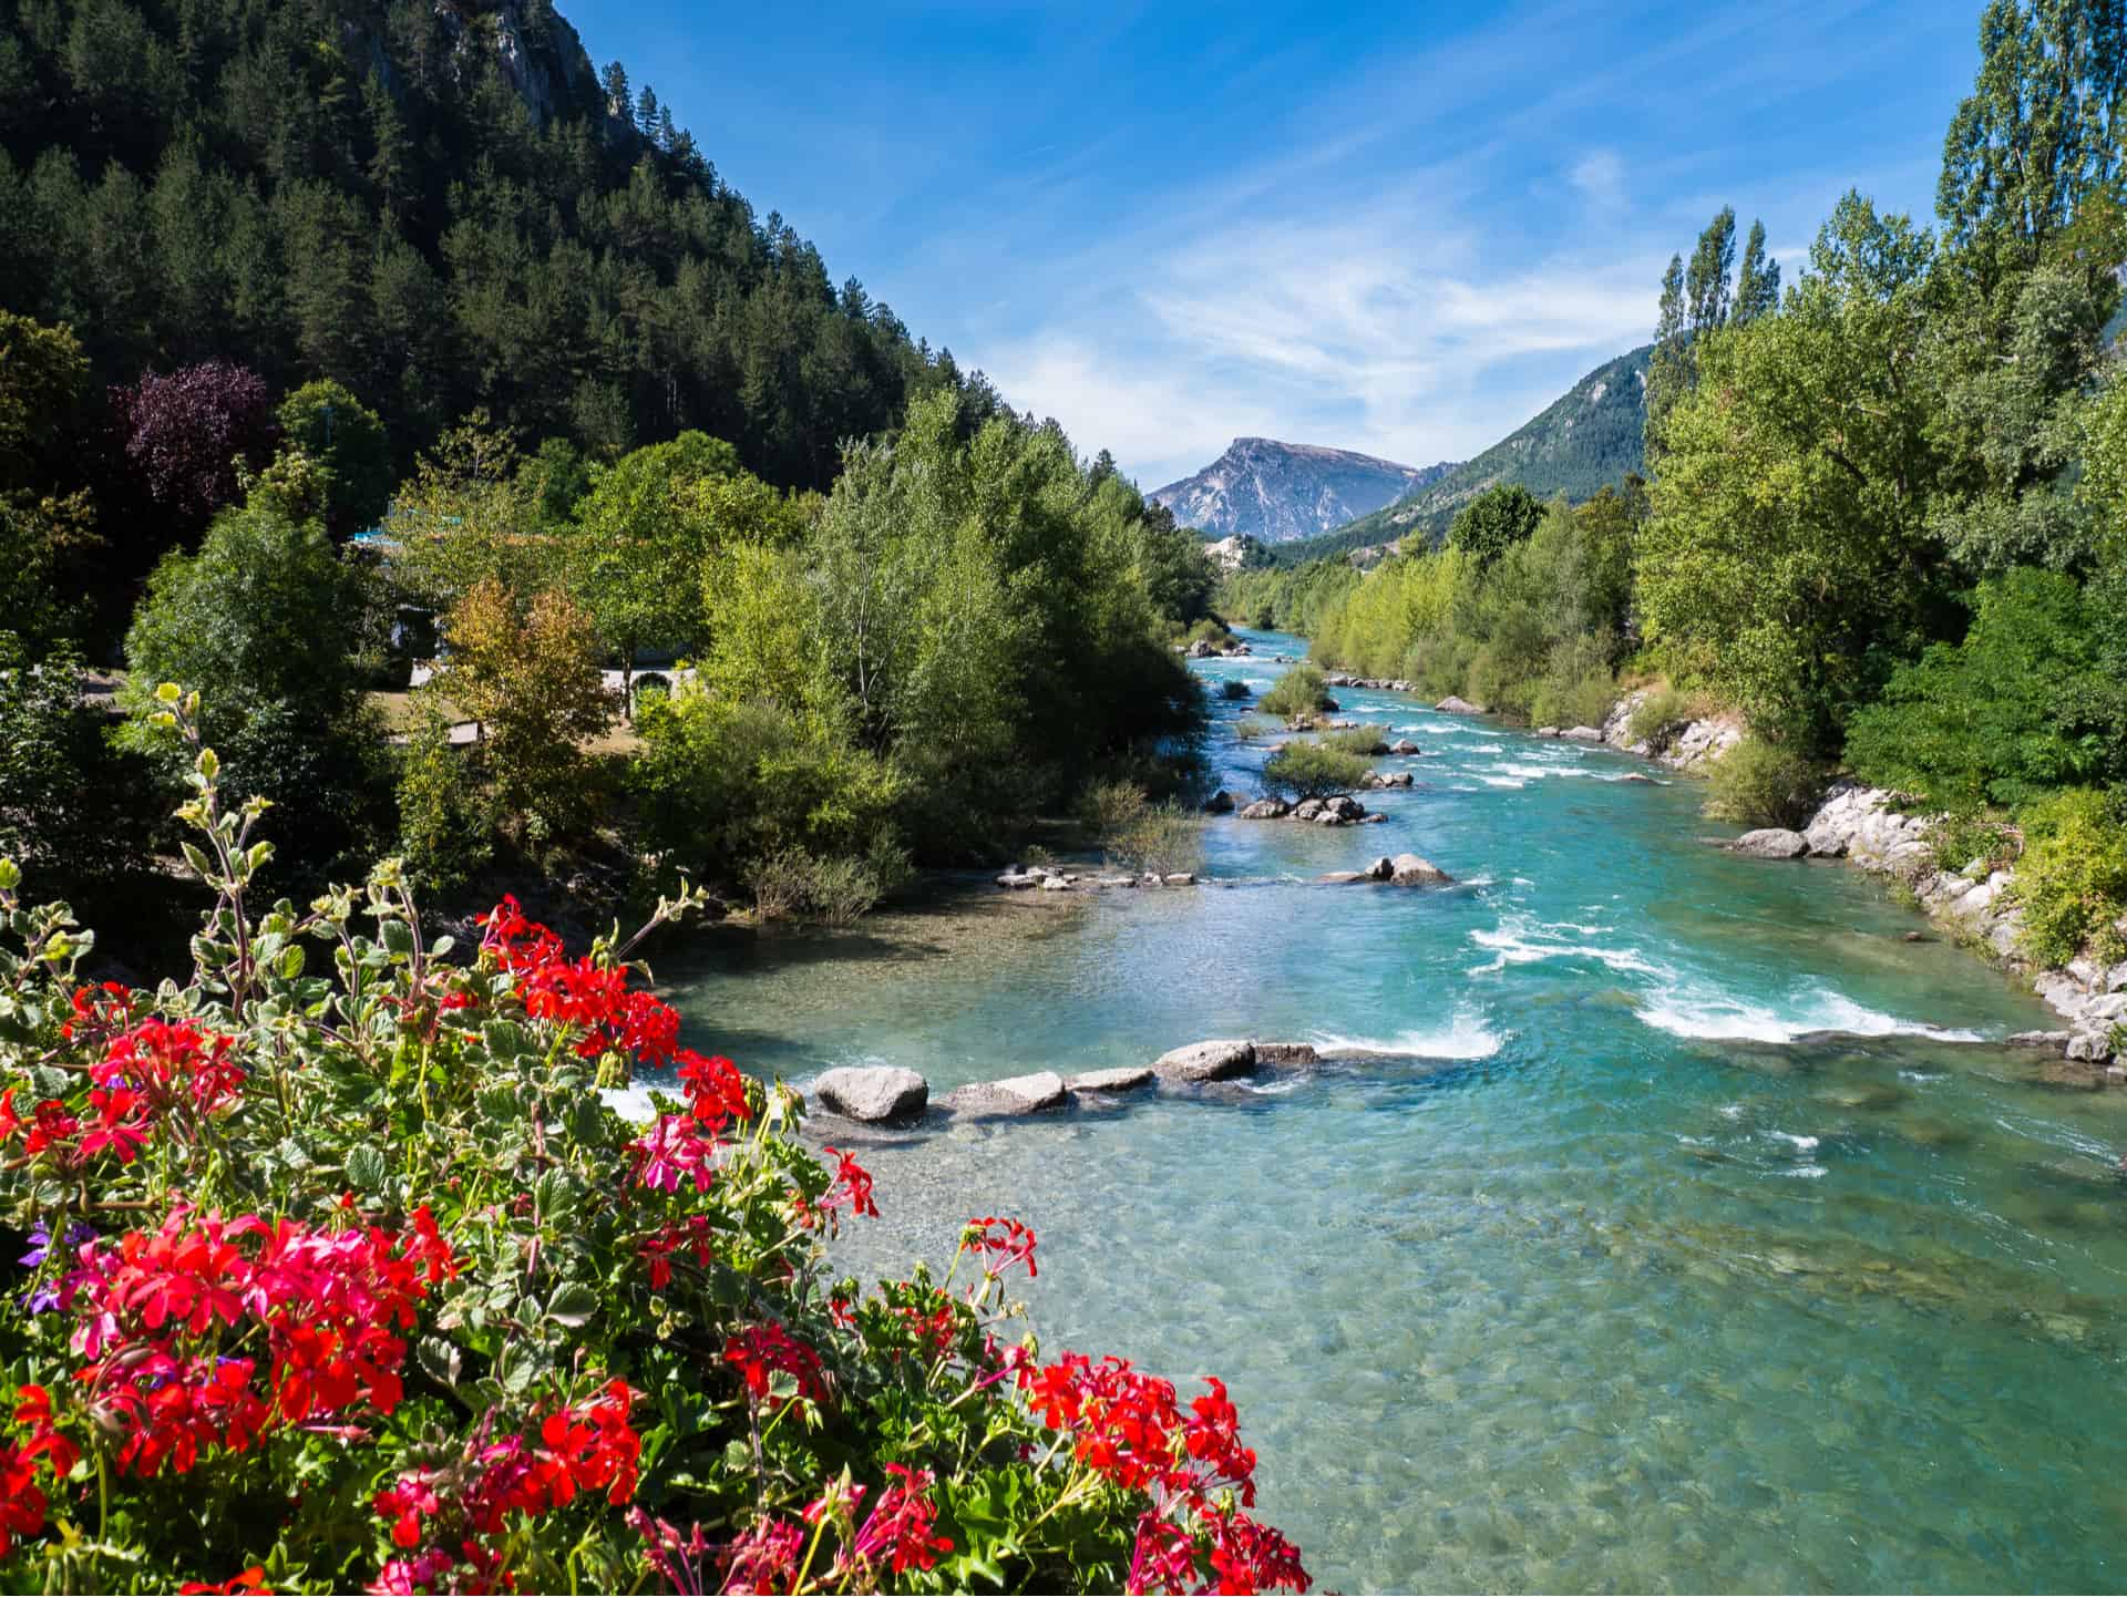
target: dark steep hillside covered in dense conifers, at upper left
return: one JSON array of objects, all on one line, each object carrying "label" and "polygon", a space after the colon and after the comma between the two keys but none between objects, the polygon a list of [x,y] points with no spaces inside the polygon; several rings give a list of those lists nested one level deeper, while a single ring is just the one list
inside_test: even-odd
[{"label": "dark steep hillside covered in dense conifers, at upper left", "polygon": [[0,306],[106,383],[338,379],[400,464],[487,406],[591,455],[700,427],[825,487],[961,383],[549,0],[6,0]]}]

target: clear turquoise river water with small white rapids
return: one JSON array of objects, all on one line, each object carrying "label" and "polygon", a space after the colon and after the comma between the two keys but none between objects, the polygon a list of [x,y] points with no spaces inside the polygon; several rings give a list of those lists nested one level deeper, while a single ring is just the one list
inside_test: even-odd
[{"label": "clear turquoise river water with small white rapids", "polygon": [[[1204,674],[1302,653],[1246,636]],[[1380,761],[1419,787],[1368,795],[1383,825],[1208,821],[1234,885],[976,889],[666,961],[693,1042],[795,1082],[1393,1055],[868,1138],[855,1263],[1027,1218],[1044,1346],[1223,1374],[1327,1588],[2121,1586],[2127,1095],[1989,1046],[2044,1012],[1857,872],[1708,848],[1693,785],[1338,697],[1423,746]],[[1217,753],[1253,789],[1261,751]],[[1404,848],[1463,885],[1308,880]]]}]

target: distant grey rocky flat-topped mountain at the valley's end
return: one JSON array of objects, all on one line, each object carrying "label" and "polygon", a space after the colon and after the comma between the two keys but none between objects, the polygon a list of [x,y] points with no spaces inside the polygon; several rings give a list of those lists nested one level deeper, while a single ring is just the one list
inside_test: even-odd
[{"label": "distant grey rocky flat-topped mountain at the valley's end", "polygon": [[1308,538],[1425,487],[1451,464],[1397,466],[1321,444],[1236,438],[1195,476],[1153,489],[1185,527],[1268,544]]}]

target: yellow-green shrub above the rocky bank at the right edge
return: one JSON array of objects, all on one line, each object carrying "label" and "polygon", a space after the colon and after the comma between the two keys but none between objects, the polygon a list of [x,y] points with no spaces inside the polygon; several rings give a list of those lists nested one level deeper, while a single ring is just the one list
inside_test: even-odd
[{"label": "yellow-green shrub above the rocky bank at the right edge", "polygon": [[2089,948],[2127,957],[2127,791],[2074,787],[2023,810],[2023,859],[2010,887],[2023,906],[2023,946],[2042,965]]}]

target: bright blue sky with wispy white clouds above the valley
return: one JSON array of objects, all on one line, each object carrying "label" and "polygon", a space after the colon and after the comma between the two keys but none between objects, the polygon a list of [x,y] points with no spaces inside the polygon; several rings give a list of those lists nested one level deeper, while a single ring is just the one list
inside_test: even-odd
[{"label": "bright blue sky with wispy white clouds above the valley", "polygon": [[562,0],[766,215],[1144,487],[1463,459],[1646,340],[1734,204],[1931,219],[1980,0]]}]

